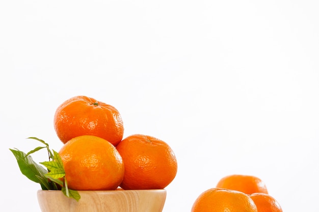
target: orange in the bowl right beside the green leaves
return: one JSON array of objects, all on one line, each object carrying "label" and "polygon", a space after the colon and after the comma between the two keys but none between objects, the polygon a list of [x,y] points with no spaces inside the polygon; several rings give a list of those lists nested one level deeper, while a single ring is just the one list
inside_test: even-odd
[{"label": "orange in the bowl right beside the green leaves", "polygon": [[59,151],[68,188],[115,190],[124,177],[123,160],[115,146],[103,138],[72,138]]}]

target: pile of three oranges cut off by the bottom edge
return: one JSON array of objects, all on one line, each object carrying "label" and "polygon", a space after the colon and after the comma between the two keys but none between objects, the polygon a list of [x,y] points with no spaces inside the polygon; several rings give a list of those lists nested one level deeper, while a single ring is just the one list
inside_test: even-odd
[{"label": "pile of three oranges cut off by the bottom edge", "polygon": [[215,188],[201,193],[191,212],[282,212],[278,201],[268,194],[264,182],[250,175],[228,175]]}]

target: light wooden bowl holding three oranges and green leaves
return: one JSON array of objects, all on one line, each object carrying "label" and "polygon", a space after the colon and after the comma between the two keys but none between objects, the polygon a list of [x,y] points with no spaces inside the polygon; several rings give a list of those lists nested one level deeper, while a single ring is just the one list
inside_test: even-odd
[{"label": "light wooden bowl holding three oranges and green leaves", "polygon": [[162,212],[166,200],[165,189],[78,191],[77,202],[62,191],[38,190],[42,212]]}]

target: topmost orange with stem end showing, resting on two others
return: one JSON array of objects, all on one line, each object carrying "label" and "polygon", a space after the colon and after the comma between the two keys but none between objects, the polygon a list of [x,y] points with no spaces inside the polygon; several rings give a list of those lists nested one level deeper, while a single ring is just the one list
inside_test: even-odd
[{"label": "topmost orange with stem end showing, resting on two others", "polygon": [[116,146],[124,133],[121,115],[115,107],[86,96],[63,102],[56,110],[54,127],[63,143],[77,136],[94,135]]}]

